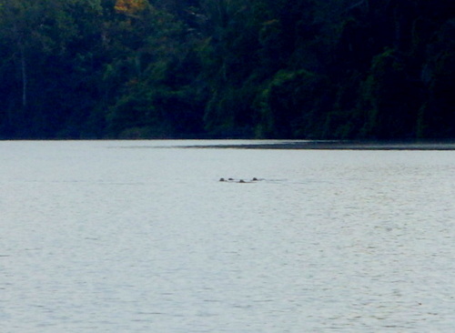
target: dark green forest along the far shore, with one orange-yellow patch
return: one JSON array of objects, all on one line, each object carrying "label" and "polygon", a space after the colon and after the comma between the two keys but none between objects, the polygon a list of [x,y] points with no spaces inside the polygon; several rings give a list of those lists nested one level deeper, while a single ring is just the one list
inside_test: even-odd
[{"label": "dark green forest along the far shore, with one orange-yellow patch", "polygon": [[0,138],[453,138],[454,8],[0,0]]}]

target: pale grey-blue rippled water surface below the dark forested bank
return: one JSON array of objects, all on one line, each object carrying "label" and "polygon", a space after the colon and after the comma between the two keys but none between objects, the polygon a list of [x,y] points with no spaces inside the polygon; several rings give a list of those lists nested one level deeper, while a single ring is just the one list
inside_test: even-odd
[{"label": "pale grey-blue rippled water surface below the dark forested bank", "polygon": [[0,142],[1,331],[454,331],[455,151],[248,144]]}]

